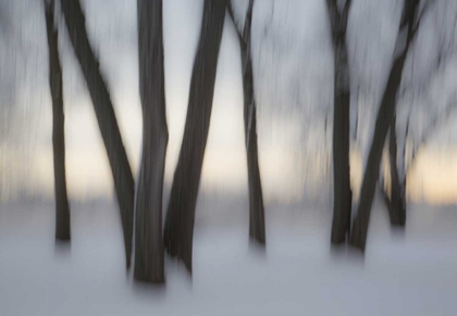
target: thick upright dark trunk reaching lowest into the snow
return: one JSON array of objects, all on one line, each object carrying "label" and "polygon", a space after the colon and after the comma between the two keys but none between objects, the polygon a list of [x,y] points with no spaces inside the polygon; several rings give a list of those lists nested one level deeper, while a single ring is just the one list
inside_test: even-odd
[{"label": "thick upright dark trunk reaching lowest into the snow", "polygon": [[136,197],[135,279],[163,276],[162,191],[169,132],[165,115],[162,0],[138,0],[139,91],[143,156]]}]

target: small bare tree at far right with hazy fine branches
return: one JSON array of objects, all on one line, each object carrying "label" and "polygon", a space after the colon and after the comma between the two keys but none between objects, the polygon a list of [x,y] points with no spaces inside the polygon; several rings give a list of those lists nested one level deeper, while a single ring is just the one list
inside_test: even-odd
[{"label": "small bare tree at far right with hazy fine branches", "polygon": [[[425,4],[430,5],[430,2]],[[433,7],[428,30],[434,38],[427,38],[430,36],[427,33],[418,37],[409,63],[411,71],[405,73],[403,88],[396,100],[397,114],[392,122],[388,138],[390,195],[381,184],[391,223],[395,226],[403,227],[406,224],[407,175],[416,162],[418,149],[427,143],[456,106],[456,86],[453,84],[457,50],[456,9],[453,1],[441,1]],[[409,161],[406,156],[407,139],[412,144],[408,152]]]}]

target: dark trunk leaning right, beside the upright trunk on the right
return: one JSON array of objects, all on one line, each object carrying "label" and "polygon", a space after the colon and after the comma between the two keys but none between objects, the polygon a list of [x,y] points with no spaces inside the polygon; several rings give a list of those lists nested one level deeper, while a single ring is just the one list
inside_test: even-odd
[{"label": "dark trunk leaning right, beside the upright trunk on the right", "polygon": [[[433,0],[430,0],[428,3],[432,1]],[[395,115],[397,92],[402,83],[406,56],[419,29],[421,18],[429,7],[424,5],[424,8],[420,10],[419,4],[420,0],[405,0],[404,2],[394,61],[381,100],[381,106],[378,112],[374,135],[367,166],[363,173],[360,201],[349,239],[349,243],[351,245],[359,248],[362,251],[365,251],[367,241],[368,224],[374,198],[374,190],[378,184],[382,151],[388,128]]]}]

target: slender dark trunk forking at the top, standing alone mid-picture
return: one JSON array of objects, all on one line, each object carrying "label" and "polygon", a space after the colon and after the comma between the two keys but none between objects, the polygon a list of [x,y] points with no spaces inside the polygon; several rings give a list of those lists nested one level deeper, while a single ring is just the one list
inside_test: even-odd
[{"label": "slender dark trunk forking at the top, standing alone mid-picture", "polygon": [[[257,144],[257,104],[254,92],[252,60],[250,55],[250,29],[252,24],[254,0],[249,0],[243,35],[238,33],[242,53],[244,119],[246,154],[249,185],[249,237],[260,244],[265,243],[265,217],[263,210],[262,184],[260,181],[259,153]],[[235,24],[232,5],[228,13]],[[236,28],[236,25],[235,25]]]}]

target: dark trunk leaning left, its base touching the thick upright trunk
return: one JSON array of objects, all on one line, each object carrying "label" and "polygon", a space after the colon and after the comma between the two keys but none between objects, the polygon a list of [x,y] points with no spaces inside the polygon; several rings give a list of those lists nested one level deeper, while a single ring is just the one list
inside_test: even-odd
[{"label": "dark trunk leaning left, its base touching the thick upright trunk", "polygon": [[129,268],[135,191],[132,169],[122,142],[107,84],[100,73],[99,62],[94,54],[87,37],[85,18],[79,0],[61,0],[61,4],[73,49],[86,78],[113,174],[124,231],[126,266]]}]

